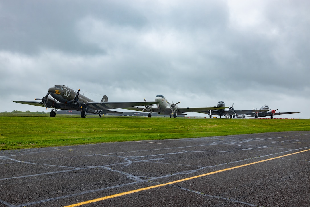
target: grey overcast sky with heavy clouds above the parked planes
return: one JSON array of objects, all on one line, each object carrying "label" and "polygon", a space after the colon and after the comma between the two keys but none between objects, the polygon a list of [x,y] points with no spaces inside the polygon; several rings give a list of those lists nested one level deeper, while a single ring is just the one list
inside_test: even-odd
[{"label": "grey overcast sky with heavy clouds above the parked planes", "polygon": [[[56,84],[100,101],[310,118],[310,1],[0,0],[0,111]],[[199,115],[199,114],[198,114]]]}]

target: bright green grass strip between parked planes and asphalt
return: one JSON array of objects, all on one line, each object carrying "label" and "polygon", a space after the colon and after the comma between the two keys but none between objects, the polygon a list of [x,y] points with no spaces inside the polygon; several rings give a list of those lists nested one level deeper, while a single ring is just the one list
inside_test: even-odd
[{"label": "bright green grass strip between parked planes and asphalt", "polygon": [[101,142],[310,131],[309,119],[145,118],[0,114],[0,150]]}]

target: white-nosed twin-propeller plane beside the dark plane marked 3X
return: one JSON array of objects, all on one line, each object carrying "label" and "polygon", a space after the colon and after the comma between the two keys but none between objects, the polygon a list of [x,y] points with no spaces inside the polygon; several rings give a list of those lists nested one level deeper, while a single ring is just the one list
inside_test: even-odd
[{"label": "white-nosed twin-propeller plane beside the dark plane marked 3X", "polygon": [[183,107],[181,108],[181,107],[178,107],[178,104],[180,103],[180,101],[175,104],[173,103],[170,104],[165,98],[165,96],[163,95],[157,95],[155,97],[155,101],[158,102],[156,106],[146,104],[147,102],[145,99],[144,101],[145,101],[144,107],[138,106],[138,107],[123,108],[123,109],[129,109],[129,110],[134,110],[134,111],[147,111],[149,118],[151,118],[152,112],[158,113],[158,114],[170,115],[170,118],[171,116],[175,118],[177,114],[187,115],[185,113],[228,108],[225,106],[224,107]]}]

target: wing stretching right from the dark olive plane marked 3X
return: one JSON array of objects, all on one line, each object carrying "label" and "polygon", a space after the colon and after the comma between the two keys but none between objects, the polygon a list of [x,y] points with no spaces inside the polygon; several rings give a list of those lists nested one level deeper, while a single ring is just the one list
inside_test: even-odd
[{"label": "wing stretching right from the dark olive plane marked 3X", "polygon": [[[158,102],[155,102],[155,101],[148,101],[148,102],[141,101],[141,102],[88,102],[85,104],[95,110],[108,110],[108,109],[114,109],[114,108],[128,108],[128,107],[134,107],[134,106],[153,105],[157,103]],[[143,110],[143,108],[144,107],[141,107],[141,111]],[[134,110],[134,109],[131,109],[131,110]]]}]

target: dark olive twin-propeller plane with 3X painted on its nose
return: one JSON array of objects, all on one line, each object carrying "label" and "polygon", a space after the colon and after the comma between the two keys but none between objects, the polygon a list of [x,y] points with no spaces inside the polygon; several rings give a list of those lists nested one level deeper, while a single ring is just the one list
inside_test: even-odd
[{"label": "dark olive twin-propeller plane with 3X painted on its nose", "polygon": [[125,108],[134,106],[143,106],[157,104],[158,102],[108,102],[108,97],[104,95],[100,102],[94,102],[78,92],[65,85],[54,85],[48,89],[48,93],[38,101],[13,101],[20,104],[29,104],[34,106],[42,106],[52,108],[51,117],[55,117],[58,109],[77,110],[81,112],[81,117],[85,118],[86,113],[101,114],[105,113],[122,113],[117,111],[109,111],[108,109]]}]

